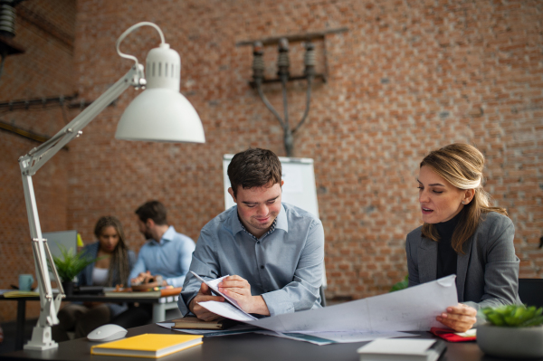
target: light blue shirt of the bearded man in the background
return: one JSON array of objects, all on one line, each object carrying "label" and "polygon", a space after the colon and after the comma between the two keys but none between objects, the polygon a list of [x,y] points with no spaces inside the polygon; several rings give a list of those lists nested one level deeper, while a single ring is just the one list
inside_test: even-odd
[{"label": "light blue shirt of the bearded man in the background", "polygon": [[162,275],[167,284],[181,287],[194,251],[195,242],[185,234],[176,233],[170,225],[160,242],[148,240],[141,247],[130,280],[138,277],[140,272],[150,271],[153,276]]}]

